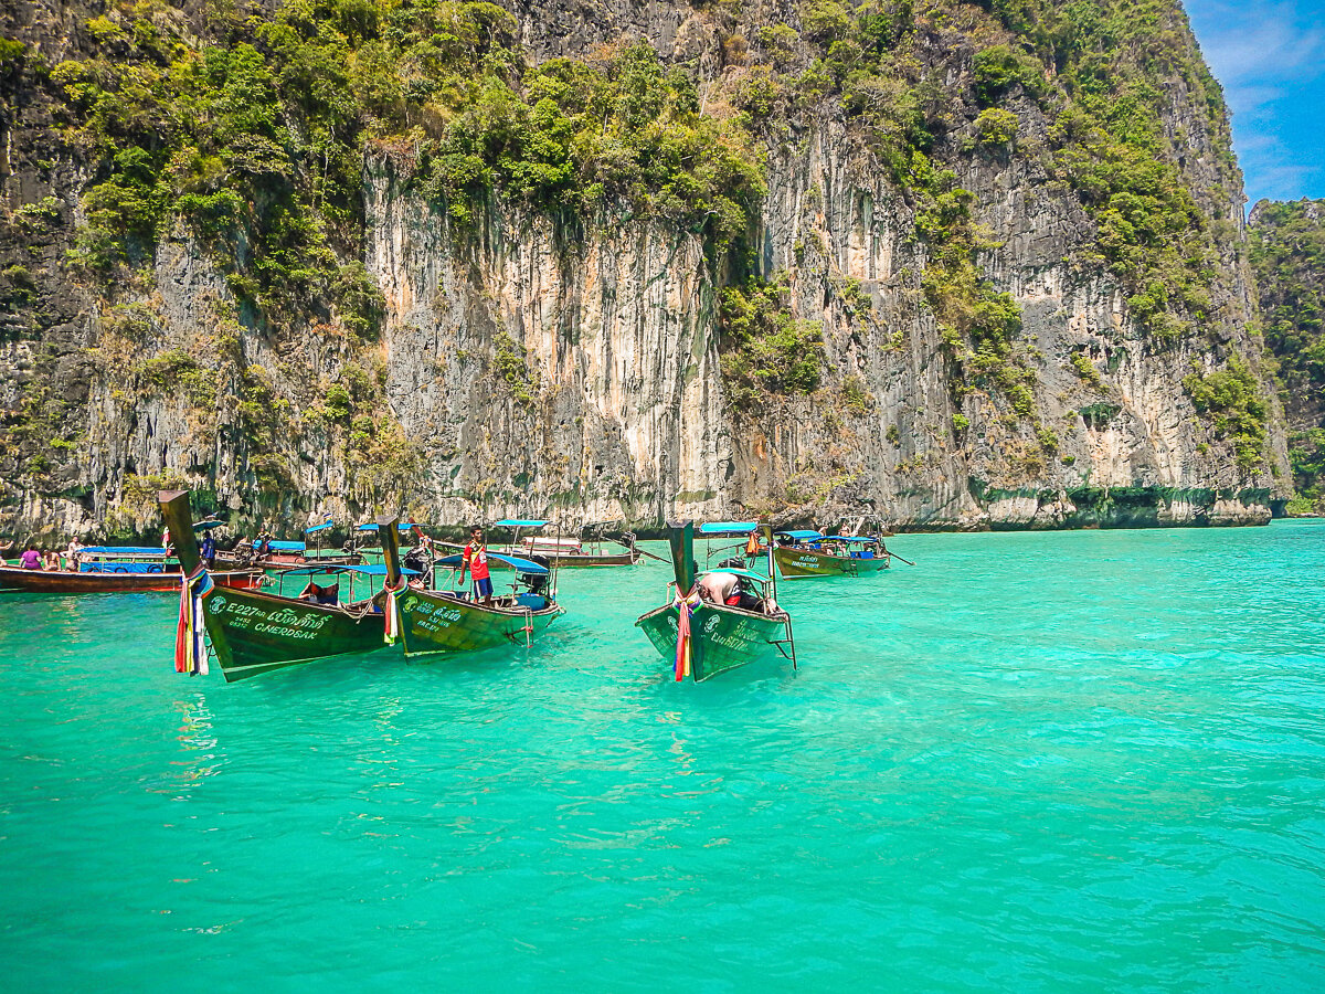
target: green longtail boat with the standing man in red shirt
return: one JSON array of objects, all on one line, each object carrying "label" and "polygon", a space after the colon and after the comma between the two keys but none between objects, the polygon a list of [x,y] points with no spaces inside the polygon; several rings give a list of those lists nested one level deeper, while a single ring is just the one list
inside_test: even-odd
[{"label": "green longtail boat with the standing man in red shirt", "polygon": [[[494,596],[484,604],[472,591],[420,590],[409,587],[396,595],[400,612],[400,640],[405,656],[431,652],[474,652],[497,645],[529,645],[558,616],[556,591],[547,586],[549,569],[529,559],[489,553],[489,567],[501,562],[515,570],[511,592]],[[449,567],[452,577],[461,566],[461,557],[447,555],[433,561]]]}]

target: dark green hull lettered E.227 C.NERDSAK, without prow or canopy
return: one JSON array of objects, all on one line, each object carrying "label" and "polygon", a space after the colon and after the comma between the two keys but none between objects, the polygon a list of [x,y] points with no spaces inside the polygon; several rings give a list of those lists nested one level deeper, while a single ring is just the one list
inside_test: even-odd
[{"label": "dark green hull lettered E.227 C.NERDSAK, without prow or canopy", "polygon": [[246,680],[329,656],[386,645],[386,615],[355,616],[253,590],[217,590],[203,599],[203,618],[225,680]]}]

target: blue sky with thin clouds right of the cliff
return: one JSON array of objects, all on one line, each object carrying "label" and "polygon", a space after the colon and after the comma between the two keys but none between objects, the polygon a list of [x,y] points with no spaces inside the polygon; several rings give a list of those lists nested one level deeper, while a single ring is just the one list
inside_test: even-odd
[{"label": "blue sky with thin clouds right of the cliff", "polygon": [[1234,113],[1248,205],[1325,197],[1325,0],[1185,0]]}]

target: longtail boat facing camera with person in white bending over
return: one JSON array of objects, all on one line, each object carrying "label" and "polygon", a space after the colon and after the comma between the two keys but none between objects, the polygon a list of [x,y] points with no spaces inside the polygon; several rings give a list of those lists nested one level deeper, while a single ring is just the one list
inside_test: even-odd
[{"label": "longtail boat facing camera with person in white bending over", "polygon": [[[754,522],[723,522],[721,530],[710,527],[705,534],[737,535],[743,530],[749,535],[755,527]],[[668,584],[672,600],[641,615],[635,624],[664,659],[673,661],[677,680],[686,676],[708,680],[761,659],[786,659],[795,665],[791,616],[778,607],[771,553],[767,553],[767,575],[722,563],[721,571],[735,575],[743,586],[754,584],[754,591],[742,591],[735,604],[714,603],[700,596],[700,579],[705,574],[694,563],[694,524],[668,522],[668,543],[676,575]]]}]

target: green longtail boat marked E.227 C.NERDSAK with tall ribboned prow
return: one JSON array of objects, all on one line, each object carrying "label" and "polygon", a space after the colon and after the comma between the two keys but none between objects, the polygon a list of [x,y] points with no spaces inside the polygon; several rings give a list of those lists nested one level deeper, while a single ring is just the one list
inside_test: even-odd
[{"label": "green longtail boat marked E.227 C.NERDSAK with tall ribboned prow", "polygon": [[[284,592],[256,590],[224,590],[207,592],[207,571],[197,555],[197,542],[188,526],[188,493],[184,490],[163,490],[160,494],[162,517],[172,535],[178,535],[175,551],[184,567],[193,598],[195,616],[205,626],[208,640],[227,681],[245,680],[297,663],[307,663],[329,656],[366,653],[387,644],[388,610],[395,587],[404,586],[396,549],[396,518],[380,518],[386,565],[383,566],[309,566],[299,573],[310,578],[299,596]],[[293,579],[295,571],[281,577],[282,583]],[[335,583],[321,586],[313,577],[334,578]],[[375,580],[384,580],[383,590],[371,592]],[[342,602],[341,580],[351,583],[348,598]],[[354,580],[368,582],[370,594],[362,599],[354,598]],[[201,632],[197,623],[188,623],[182,610],[180,639],[186,628],[193,639]],[[176,668],[187,668],[183,657],[191,661],[195,672],[205,668],[205,655],[197,660],[196,648],[176,648]]]}]

